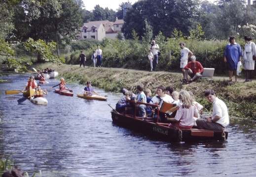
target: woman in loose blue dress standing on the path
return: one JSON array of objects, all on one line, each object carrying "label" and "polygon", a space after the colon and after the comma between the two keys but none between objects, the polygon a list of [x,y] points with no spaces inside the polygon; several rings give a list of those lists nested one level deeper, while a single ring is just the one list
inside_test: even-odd
[{"label": "woman in loose blue dress standing on the path", "polygon": [[230,36],[229,44],[226,45],[224,50],[224,62],[227,63],[229,82],[232,81],[233,73],[235,75],[236,82],[238,81],[236,69],[238,61],[241,61],[241,57],[243,57],[241,46],[236,43],[235,36]]}]

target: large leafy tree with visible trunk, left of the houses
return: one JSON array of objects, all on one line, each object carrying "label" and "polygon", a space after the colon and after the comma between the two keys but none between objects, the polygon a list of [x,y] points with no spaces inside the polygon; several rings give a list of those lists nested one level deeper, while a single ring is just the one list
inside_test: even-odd
[{"label": "large leafy tree with visible trunk, left of the houses", "polygon": [[42,5],[24,0],[18,7],[17,36],[24,41],[31,37],[56,42],[58,57],[60,44],[73,39],[82,26],[81,8],[73,0],[47,0]]}]

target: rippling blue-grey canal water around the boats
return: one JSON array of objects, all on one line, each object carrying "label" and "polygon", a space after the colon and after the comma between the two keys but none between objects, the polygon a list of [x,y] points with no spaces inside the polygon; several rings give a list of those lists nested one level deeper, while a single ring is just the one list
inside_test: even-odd
[{"label": "rippling blue-grey canal water around the boats", "polygon": [[[10,155],[30,176],[41,177],[241,177],[256,175],[256,126],[227,127],[224,142],[168,143],[112,123],[110,111],[122,93],[95,90],[107,101],[78,98],[84,86],[70,85],[74,96],[48,90],[48,105],[18,104],[28,74],[0,77],[0,155]],[[59,83],[50,79],[47,89]]]}]

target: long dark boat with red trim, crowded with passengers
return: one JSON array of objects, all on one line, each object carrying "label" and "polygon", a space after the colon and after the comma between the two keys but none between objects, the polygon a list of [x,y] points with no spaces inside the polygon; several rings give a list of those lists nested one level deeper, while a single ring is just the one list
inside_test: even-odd
[{"label": "long dark boat with red trim, crowded with passengers", "polygon": [[[139,104],[141,104],[141,102],[139,102]],[[156,107],[156,105],[148,103],[143,104]],[[159,110],[158,105],[157,109]],[[227,139],[228,135],[227,131],[202,130],[197,128],[170,128],[168,127],[169,123],[154,123],[152,118],[137,117],[136,110],[134,114],[128,115],[126,113],[118,113],[115,109],[113,109],[111,111],[111,117],[113,123],[116,125],[134,129],[136,131],[145,133],[146,135],[154,136],[168,142],[196,142],[206,140],[223,141]]]}]

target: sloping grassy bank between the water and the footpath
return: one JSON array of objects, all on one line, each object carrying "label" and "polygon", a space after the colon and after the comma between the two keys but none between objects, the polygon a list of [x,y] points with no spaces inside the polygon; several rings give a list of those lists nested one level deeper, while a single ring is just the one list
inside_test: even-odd
[{"label": "sloping grassy bank between the water and the footpath", "polygon": [[181,83],[181,73],[170,73],[164,71],[147,72],[123,68],[79,68],[79,65],[61,66],[52,63],[33,65],[37,69],[46,67],[59,72],[59,77],[64,77],[67,83],[86,85],[90,80],[94,87],[111,92],[120,92],[122,88],[136,91],[136,86],[143,83],[145,88],[152,92],[159,85],[171,86],[175,90],[191,90],[196,101],[204,105],[205,111],[210,111],[212,104],[204,98],[207,89],[213,89],[217,96],[222,99],[228,109],[231,118],[256,120],[256,83],[233,83],[230,84],[226,78],[215,77],[214,79],[200,79],[189,85]]}]

